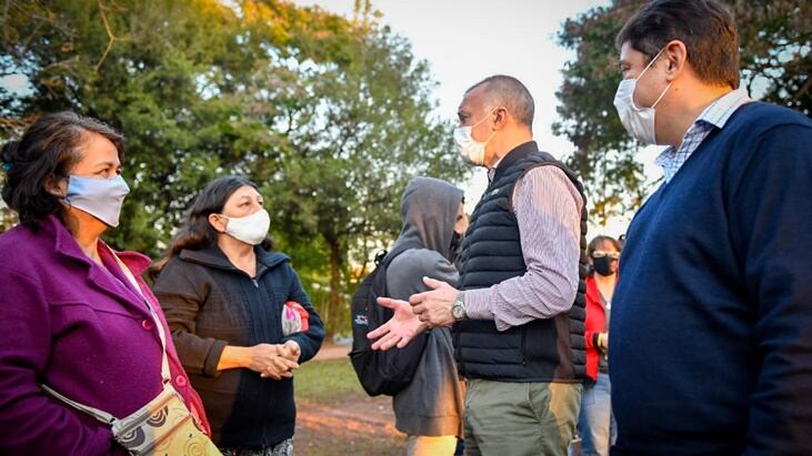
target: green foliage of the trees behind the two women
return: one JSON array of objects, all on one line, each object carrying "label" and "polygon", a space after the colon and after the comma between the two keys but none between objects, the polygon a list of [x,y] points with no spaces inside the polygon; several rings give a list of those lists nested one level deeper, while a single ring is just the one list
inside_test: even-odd
[{"label": "green foliage of the trees behind the two women", "polygon": [[430,118],[427,63],[368,1],[354,20],[280,0],[8,1],[4,11],[0,77],[22,74],[31,90],[0,90],[1,138],[63,109],[120,130],[132,190],[106,237],[153,257],[207,181],[251,178],[331,333],[355,263],[397,235],[408,180],[463,176],[451,126]]}]

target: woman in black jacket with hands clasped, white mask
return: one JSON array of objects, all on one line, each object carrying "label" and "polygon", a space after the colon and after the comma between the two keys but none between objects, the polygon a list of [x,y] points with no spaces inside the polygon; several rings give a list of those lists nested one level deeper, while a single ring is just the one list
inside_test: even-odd
[{"label": "woman in black jacket with hands clasped, white mask", "polygon": [[158,263],[154,294],[224,455],[290,455],[293,371],[324,337],[253,183],[210,182]]}]

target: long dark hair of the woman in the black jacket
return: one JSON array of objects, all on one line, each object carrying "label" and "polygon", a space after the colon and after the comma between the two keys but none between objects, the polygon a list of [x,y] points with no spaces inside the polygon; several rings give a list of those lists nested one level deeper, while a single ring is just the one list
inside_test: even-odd
[{"label": "long dark hair of the woman in the black jacket", "polygon": [[[187,220],[172,237],[167,253],[150,268],[150,275],[154,278],[182,250],[202,250],[217,244],[218,232],[209,223],[209,215],[222,213],[229,197],[245,185],[257,189],[257,184],[239,175],[225,175],[205,184],[194,197]],[[265,236],[260,246],[272,250],[271,237]]]}]

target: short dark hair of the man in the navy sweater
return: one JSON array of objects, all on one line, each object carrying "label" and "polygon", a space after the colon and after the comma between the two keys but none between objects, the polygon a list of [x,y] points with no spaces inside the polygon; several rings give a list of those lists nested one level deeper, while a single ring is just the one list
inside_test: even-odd
[{"label": "short dark hair of the man in the navy sweater", "polygon": [[685,44],[700,80],[739,88],[739,33],[726,7],[713,0],[652,1],[626,21],[615,44],[628,42],[648,63],[672,40]]}]

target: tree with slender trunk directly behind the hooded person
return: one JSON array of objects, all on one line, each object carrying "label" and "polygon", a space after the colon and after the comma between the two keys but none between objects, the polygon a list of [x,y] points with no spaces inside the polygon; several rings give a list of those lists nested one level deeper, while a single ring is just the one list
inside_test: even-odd
[{"label": "tree with slender trunk directly behind the hooded person", "polygon": [[365,271],[370,247],[397,235],[408,180],[459,180],[465,172],[450,153],[451,125],[429,118],[435,103],[427,64],[388,29],[354,27],[352,60],[291,69],[301,77],[290,89],[297,100],[285,104],[288,146],[280,168],[258,178],[278,202],[275,219],[291,227],[287,240],[318,239],[327,250],[328,333],[349,321],[341,317],[348,308],[342,291],[358,278],[353,264]]}]

